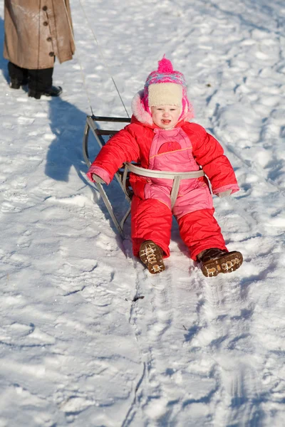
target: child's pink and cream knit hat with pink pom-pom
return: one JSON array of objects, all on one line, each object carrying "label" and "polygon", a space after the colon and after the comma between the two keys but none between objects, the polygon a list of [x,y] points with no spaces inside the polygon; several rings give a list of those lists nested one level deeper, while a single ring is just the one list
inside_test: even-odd
[{"label": "child's pink and cream knit hat with pink pom-pom", "polygon": [[165,56],[158,61],[157,70],[147,77],[142,103],[147,112],[156,105],[176,105],[181,107],[182,115],[190,110],[185,77],[173,70],[171,61]]}]

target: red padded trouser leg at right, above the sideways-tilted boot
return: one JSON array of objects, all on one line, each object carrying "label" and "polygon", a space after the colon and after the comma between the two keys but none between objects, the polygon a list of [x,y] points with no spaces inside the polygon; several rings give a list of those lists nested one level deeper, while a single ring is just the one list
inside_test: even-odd
[{"label": "red padded trouser leg at right, above the sideways-tilted boot", "polygon": [[193,260],[197,255],[209,248],[227,251],[221,228],[214,218],[214,209],[201,209],[182,216],[177,220],[180,236],[190,250]]}]

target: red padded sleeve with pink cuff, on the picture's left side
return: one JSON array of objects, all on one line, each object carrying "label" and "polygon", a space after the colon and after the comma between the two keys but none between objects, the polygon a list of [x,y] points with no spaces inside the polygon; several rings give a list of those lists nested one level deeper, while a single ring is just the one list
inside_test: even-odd
[{"label": "red padded sleeve with pink cuff, on the picture's left side", "polygon": [[87,176],[93,181],[92,175],[96,174],[106,184],[112,181],[115,172],[124,162],[138,161],[140,149],[132,125],[126,126],[109,139],[88,169]]}]

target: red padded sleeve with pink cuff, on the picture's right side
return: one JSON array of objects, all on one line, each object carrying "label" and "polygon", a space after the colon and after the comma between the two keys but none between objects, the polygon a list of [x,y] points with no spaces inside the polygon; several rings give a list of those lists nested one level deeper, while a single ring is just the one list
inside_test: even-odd
[{"label": "red padded sleeve with pink cuff, on the picture's right side", "polygon": [[222,145],[209,135],[204,127],[194,126],[196,135],[192,138],[193,156],[209,178],[213,193],[219,194],[227,190],[231,190],[232,193],[239,191],[234,169],[224,155]]}]

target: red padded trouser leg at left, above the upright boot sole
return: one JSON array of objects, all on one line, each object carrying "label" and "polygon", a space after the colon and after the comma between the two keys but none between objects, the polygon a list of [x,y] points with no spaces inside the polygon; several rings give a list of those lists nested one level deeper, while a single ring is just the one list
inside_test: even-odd
[{"label": "red padded trouser leg at left, above the upright boot sole", "polygon": [[172,212],[165,204],[155,199],[142,200],[133,196],[131,218],[135,256],[138,256],[141,243],[148,240],[160,246],[165,257],[170,255]]}]

